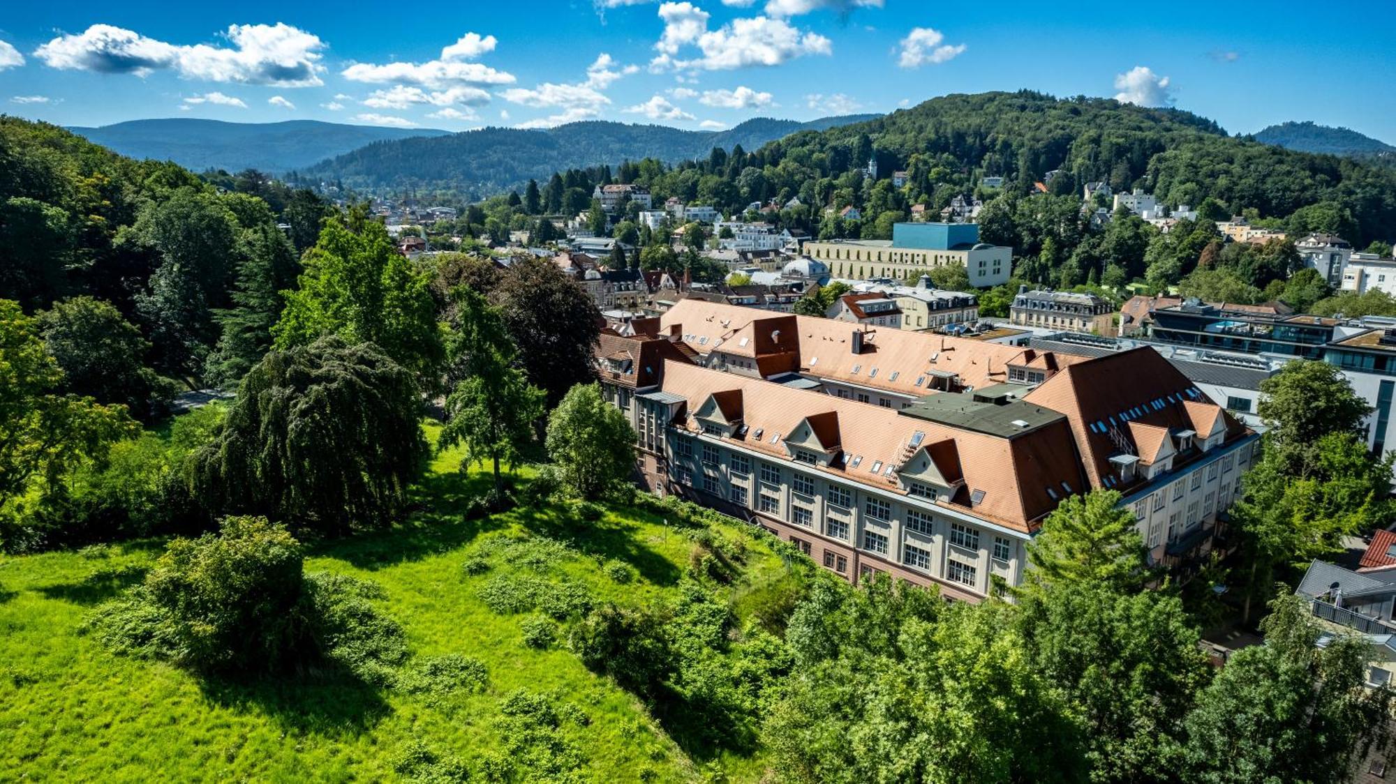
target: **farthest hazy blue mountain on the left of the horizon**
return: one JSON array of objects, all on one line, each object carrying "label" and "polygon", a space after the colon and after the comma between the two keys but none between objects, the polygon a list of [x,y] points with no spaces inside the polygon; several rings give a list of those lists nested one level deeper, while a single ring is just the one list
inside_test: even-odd
[{"label": "farthest hazy blue mountain on the left of the horizon", "polygon": [[190,117],[131,120],[101,128],[68,130],[121,155],[173,160],[194,172],[260,169],[271,173],[302,169],[376,141],[450,133],[315,120],[223,123]]}]

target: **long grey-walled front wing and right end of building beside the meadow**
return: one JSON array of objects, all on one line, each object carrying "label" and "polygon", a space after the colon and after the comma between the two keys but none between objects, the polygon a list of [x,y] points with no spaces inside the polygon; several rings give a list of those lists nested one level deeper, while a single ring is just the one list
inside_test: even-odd
[{"label": "long grey-walled front wing and right end of building beside the meadow", "polygon": [[902,410],[666,360],[624,402],[652,491],[761,525],[849,580],[886,572],[966,601],[1020,585],[1041,520],[1099,487],[1127,494],[1154,561],[1195,564],[1256,439],[1152,349],[1068,365],[1022,399],[987,388]]}]

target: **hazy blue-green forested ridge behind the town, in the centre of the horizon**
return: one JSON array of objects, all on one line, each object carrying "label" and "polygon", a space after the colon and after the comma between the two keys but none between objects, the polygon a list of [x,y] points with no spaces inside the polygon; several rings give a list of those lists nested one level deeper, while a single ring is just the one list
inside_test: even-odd
[{"label": "hazy blue-green forested ridge behind the town, in the centre of the horizon", "polygon": [[741,145],[752,149],[797,131],[821,131],[868,117],[874,114],[808,123],[757,117],[718,133],[599,120],[547,130],[480,128],[448,137],[370,144],[302,173],[320,180],[342,180],[357,188],[413,186],[483,197],[521,187],[529,179],[546,179],[560,169],[642,158],[674,163],[705,158],[712,148]]}]

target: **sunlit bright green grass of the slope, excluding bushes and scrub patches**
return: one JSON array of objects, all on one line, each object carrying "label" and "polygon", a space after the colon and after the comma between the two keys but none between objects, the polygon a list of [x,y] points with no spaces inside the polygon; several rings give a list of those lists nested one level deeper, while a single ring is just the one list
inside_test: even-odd
[{"label": "sunlit bright green grass of the slope, excluding bushes and scrub patches", "polygon": [[[452,473],[458,459],[447,453],[436,462],[424,509],[410,525],[317,547],[307,572],[380,583],[413,653],[480,658],[490,674],[484,693],[431,698],[292,678],[201,686],[179,668],[112,656],[78,633],[94,605],[140,579],[162,543],[10,558],[0,561],[0,781],[394,778],[392,760],[413,739],[468,763],[498,749],[498,703],[517,688],[553,692],[591,717],[589,725],[565,730],[588,760],[585,780],[635,780],[646,767],[656,781],[692,780],[711,769],[759,777],[758,759],[701,752],[691,759],[635,698],[574,654],[526,647],[524,615],[497,615],[475,596],[501,568],[477,576],[461,569],[489,537],[571,537],[586,555],[551,566],[553,576],[585,583],[599,600],[638,603],[671,590],[692,548],[688,537],[630,511],[602,523],[564,519],[556,509],[461,522],[461,502],[487,477],[463,481]],[[786,579],[780,558],[752,532],[725,534],[752,544],[734,597]],[[639,578],[610,580],[606,559],[631,564]],[[740,598],[734,605],[740,614]]]}]

